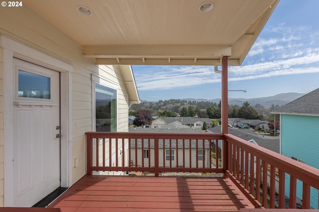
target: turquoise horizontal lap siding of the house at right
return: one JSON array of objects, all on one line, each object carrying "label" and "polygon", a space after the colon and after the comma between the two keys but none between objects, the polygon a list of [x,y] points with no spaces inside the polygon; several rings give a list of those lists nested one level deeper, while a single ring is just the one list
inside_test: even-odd
[{"label": "turquoise horizontal lap siding of the house at right", "polygon": [[[306,161],[319,168],[319,117],[282,115],[281,153]],[[286,195],[289,196],[289,176],[286,176]],[[297,182],[297,197],[302,199],[302,183]],[[311,206],[318,208],[318,191],[312,190]]]}]

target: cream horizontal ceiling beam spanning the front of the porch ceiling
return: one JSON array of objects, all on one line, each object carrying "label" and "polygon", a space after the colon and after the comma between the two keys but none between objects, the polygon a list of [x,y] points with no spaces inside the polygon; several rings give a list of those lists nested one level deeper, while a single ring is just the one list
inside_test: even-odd
[{"label": "cream horizontal ceiling beam spanning the front of the porch ceiling", "polygon": [[231,46],[84,46],[83,56],[89,58],[204,58],[231,56]]}]

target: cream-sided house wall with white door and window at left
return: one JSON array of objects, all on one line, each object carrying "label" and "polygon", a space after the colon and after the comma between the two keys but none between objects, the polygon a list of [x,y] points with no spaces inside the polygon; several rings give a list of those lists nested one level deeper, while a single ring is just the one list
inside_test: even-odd
[{"label": "cream-sided house wall with white door and window at left", "polygon": [[85,133],[128,132],[140,100],[130,66],[96,65],[27,5],[14,11],[0,11],[0,207],[31,207],[82,178]]}]

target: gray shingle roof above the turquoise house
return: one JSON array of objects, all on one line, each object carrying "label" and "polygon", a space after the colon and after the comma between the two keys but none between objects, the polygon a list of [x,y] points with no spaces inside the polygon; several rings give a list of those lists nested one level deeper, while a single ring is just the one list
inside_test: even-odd
[{"label": "gray shingle roof above the turquoise house", "polygon": [[319,88],[283,105],[272,113],[319,116]]}]

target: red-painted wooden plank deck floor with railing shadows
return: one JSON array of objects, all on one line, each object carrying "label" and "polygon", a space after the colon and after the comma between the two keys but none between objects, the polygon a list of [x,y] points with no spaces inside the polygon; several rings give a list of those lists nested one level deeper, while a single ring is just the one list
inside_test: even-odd
[{"label": "red-painted wooden plank deck floor with railing shadows", "polygon": [[254,206],[230,179],[84,176],[49,207],[62,212],[238,211]]}]

